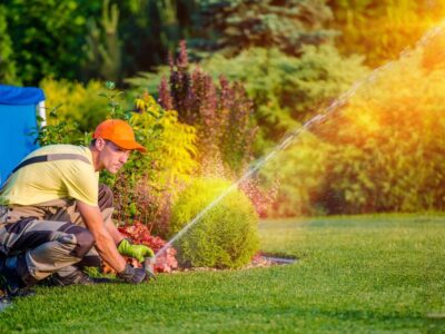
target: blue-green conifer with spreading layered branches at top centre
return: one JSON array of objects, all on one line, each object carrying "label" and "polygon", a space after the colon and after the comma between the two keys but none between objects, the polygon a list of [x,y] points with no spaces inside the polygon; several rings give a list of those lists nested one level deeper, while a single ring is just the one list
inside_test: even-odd
[{"label": "blue-green conifer with spreading layered branches at top centre", "polygon": [[191,39],[199,55],[228,57],[249,48],[277,48],[299,56],[304,45],[320,45],[335,35],[327,28],[332,9],[324,0],[199,1],[200,33]]}]

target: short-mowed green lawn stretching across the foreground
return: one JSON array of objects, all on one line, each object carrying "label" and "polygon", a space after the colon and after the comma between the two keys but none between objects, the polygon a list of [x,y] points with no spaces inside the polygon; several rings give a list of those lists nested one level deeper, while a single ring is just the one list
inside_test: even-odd
[{"label": "short-mowed green lawn stretching across the foreground", "polygon": [[39,288],[0,333],[445,333],[445,216],[267,220],[293,265]]}]

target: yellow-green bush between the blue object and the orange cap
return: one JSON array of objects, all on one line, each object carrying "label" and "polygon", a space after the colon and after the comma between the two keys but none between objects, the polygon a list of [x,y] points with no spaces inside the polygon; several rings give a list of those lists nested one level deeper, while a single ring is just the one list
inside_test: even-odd
[{"label": "yellow-green bush between the blue object and the orange cap", "polygon": [[[44,91],[48,110],[57,107],[57,121],[77,122],[81,131],[93,131],[108,114],[108,101],[99,96],[105,90],[99,81],[82,85],[47,78],[40,88]],[[49,124],[53,120],[49,118]]]}]

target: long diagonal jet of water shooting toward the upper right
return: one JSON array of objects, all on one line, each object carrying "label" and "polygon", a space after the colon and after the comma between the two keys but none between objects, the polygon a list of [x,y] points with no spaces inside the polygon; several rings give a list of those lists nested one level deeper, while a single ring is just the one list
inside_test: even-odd
[{"label": "long diagonal jet of water shooting toward the upper right", "polygon": [[[435,28],[428,30],[415,45],[415,48],[419,48],[426,45],[426,42],[433,37],[443,32],[445,27],[445,21],[437,24]],[[411,55],[411,49],[405,48],[398,59],[404,59],[405,57]],[[151,264],[156,263],[156,259],[159,255],[165,253],[177,239],[184,236],[199,219],[206,215],[211,208],[214,208],[222,198],[225,198],[229,193],[238,188],[239,184],[249,178],[255,171],[263,167],[268,160],[275,157],[279,151],[286,149],[294,139],[305,129],[310,129],[314,125],[319,125],[327,119],[328,116],[333,115],[335,110],[344,106],[356,92],[359,88],[362,88],[367,82],[375,81],[378,76],[389,69],[394,65],[394,61],[389,61],[376,69],[374,69],[366,78],[356,81],[349,90],[340,95],[339,98],[335,99],[329,106],[324,108],[318,115],[314,116],[312,119],[303,124],[303,126],[294,129],[290,134],[285,135],[284,139],[266,156],[257,159],[251,167],[237,181],[233,183],[230,187],[228,187],[225,191],[222,191],[217,198],[215,198],[207,207],[205,207],[194,219],[191,219],[181,230],[179,230],[170,240],[168,240],[162,248],[160,248],[155,256],[150,259]]]}]

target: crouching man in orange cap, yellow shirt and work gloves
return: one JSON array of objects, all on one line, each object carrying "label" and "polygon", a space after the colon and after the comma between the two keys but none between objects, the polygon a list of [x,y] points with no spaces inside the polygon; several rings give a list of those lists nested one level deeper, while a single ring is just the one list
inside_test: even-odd
[{"label": "crouching man in orange cap, yellow shirt and work gloves", "polygon": [[154,252],[118,232],[112,193],[98,183],[100,170],[116,174],[132,150],[146,151],[126,121],[109,119],[89,147],[41,147],[16,167],[0,191],[0,283],[9,296],[32,293],[26,287],[50,275],[58,285],[92,284],[81,269],[101,259],[128,283],[147,278],[122,255],[141,262]]}]

